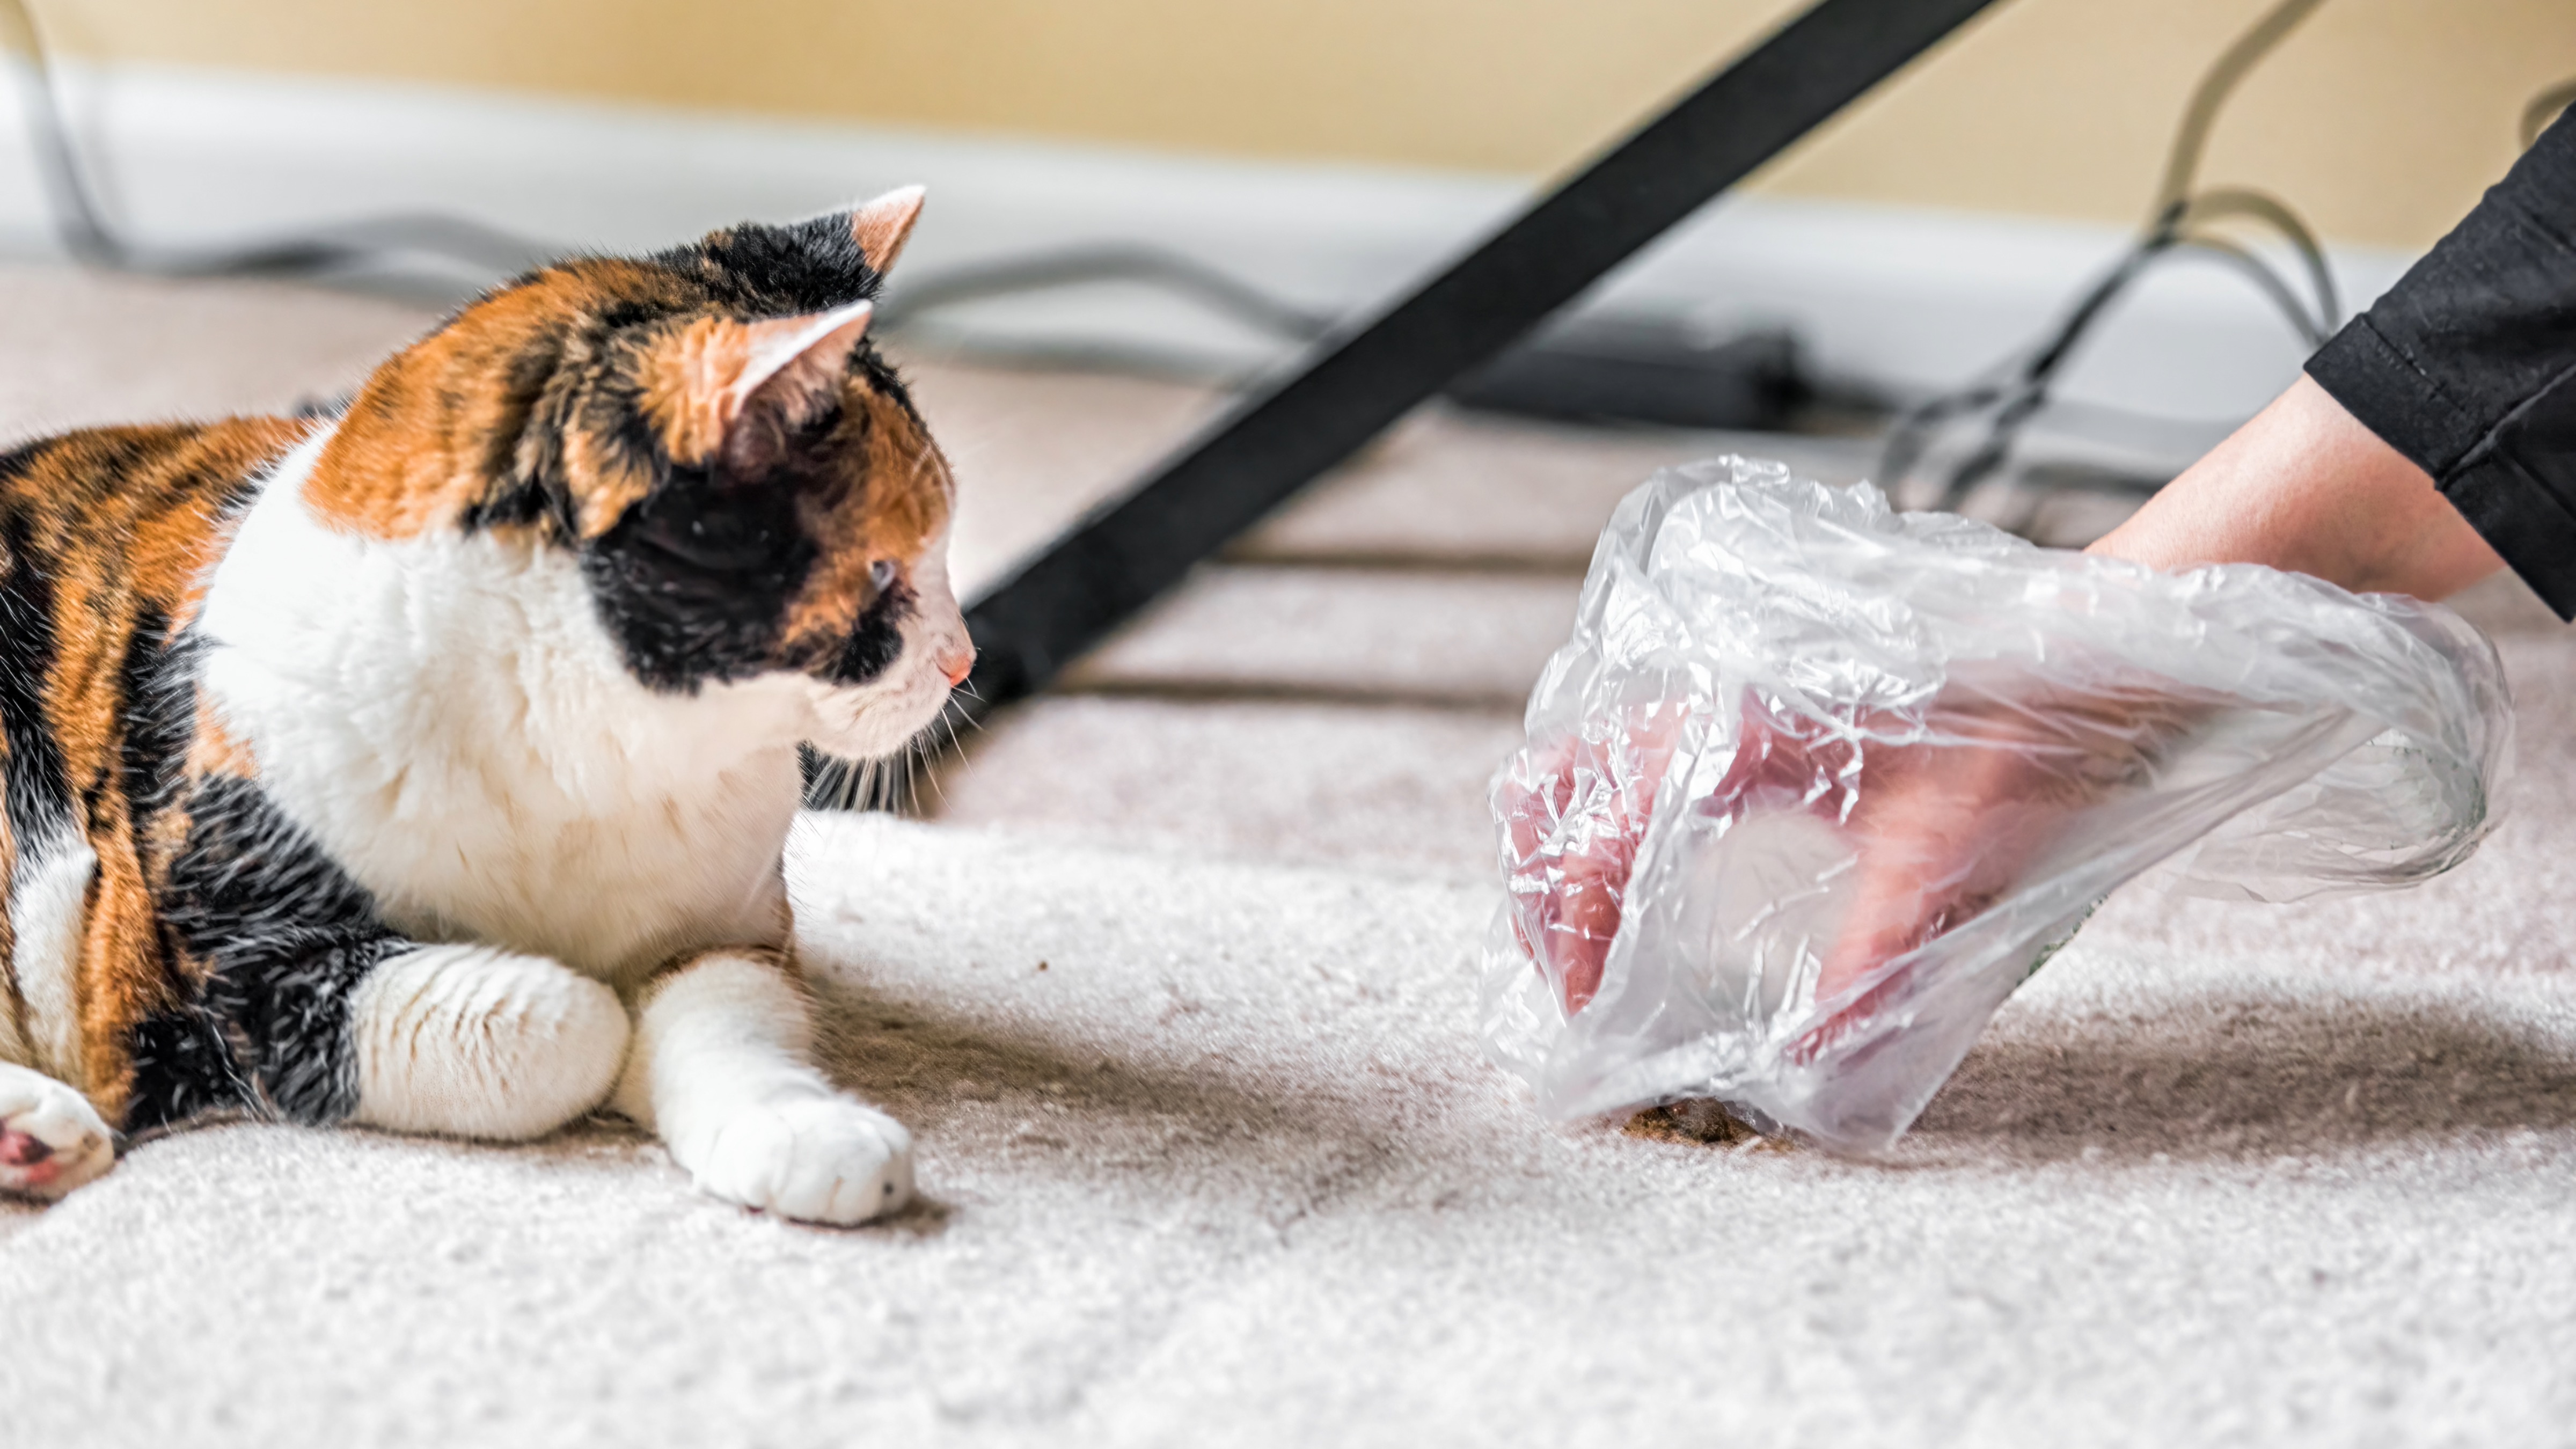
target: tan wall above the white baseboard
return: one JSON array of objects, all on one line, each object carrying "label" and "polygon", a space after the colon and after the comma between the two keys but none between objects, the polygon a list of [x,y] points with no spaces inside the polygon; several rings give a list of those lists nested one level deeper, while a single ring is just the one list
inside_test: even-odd
[{"label": "tan wall above the white baseboard", "polygon": [[[2200,67],[2267,0],[2014,0],[1762,178],[2130,222]],[[1262,157],[1551,173],[1780,0],[36,0],[67,49]],[[2424,245],[2576,72],[2571,0],[2331,0],[2210,178]]]}]

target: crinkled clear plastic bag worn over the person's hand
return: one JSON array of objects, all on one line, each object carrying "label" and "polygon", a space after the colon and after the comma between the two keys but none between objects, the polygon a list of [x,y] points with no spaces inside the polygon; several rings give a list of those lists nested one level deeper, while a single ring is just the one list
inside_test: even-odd
[{"label": "crinkled clear plastic bag worn over the person's hand", "polygon": [[1667,469],[1494,779],[1486,1042],[1551,1116],[1718,1098],[1883,1152],[2120,882],[2414,884],[2476,851],[2509,755],[2447,608]]}]

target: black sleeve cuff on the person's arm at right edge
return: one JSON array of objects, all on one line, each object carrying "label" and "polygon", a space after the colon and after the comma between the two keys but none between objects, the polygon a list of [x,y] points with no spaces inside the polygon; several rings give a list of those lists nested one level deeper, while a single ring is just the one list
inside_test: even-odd
[{"label": "black sleeve cuff on the person's arm at right edge", "polygon": [[2308,376],[2576,619],[2576,111]]}]

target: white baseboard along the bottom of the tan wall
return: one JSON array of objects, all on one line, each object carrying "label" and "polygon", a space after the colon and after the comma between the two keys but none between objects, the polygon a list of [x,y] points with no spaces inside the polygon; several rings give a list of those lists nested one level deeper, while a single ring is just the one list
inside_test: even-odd
[{"label": "white baseboard along the bottom of the tan wall", "polygon": [[[922,180],[933,204],[904,263],[912,276],[1146,240],[1311,307],[1365,315],[1530,193],[1492,175],[170,67],[75,72],[67,95],[116,214],[165,245],[430,209],[629,250]],[[2143,196],[2151,178],[2138,180]],[[26,250],[44,237],[23,119],[10,106],[0,119],[0,242]],[[1788,325],[1821,371],[1917,394],[2009,356],[2123,242],[2120,229],[2071,222],[1741,196],[1680,227],[1584,304],[1718,333]],[[2347,307],[2378,297],[2406,260],[2336,250]],[[956,325],[1028,340],[1113,333],[1221,356],[1260,348],[1182,304],[1131,291],[984,304]],[[2259,407],[2295,376],[2300,356],[2246,281],[2177,260],[2107,317],[2063,392],[2192,433]]]}]

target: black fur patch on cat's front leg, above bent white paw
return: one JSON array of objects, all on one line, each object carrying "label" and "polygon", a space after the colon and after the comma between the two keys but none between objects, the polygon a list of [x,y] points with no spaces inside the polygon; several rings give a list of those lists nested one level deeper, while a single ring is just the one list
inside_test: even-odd
[{"label": "black fur patch on cat's front leg, above bent white paw", "polygon": [[245,1091],[291,1122],[358,1109],[350,993],[410,941],[255,781],[214,776],[188,797],[162,928],[206,967],[206,985],[193,1018],[162,1016],[137,1034],[131,1129]]}]

